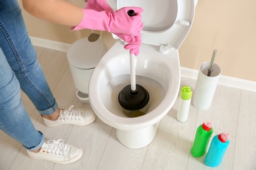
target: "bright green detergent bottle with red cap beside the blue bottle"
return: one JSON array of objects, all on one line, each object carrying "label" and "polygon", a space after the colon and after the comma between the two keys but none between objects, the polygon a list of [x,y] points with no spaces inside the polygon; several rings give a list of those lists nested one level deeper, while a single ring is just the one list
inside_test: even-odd
[{"label": "bright green detergent bottle with red cap beside the blue bottle", "polygon": [[198,127],[196,130],[196,137],[191,148],[192,156],[201,157],[205,154],[212,134],[213,128],[211,128],[211,122],[205,122]]}]

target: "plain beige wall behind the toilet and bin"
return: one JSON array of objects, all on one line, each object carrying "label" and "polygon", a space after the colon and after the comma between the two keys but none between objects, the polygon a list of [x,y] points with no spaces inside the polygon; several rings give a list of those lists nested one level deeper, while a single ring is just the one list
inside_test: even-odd
[{"label": "plain beige wall behind the toilet and bin", "polygon": [[[69,1],[84,6],[83,0]],[[222,75],[256,81],[255,7],[255,0],[199,0],[192,29],[179,50],[181,66],[199,69],[217,49],[215,61]],[[71,44],[91,33],[88,29],[70,32],[66,26],[39,20],[27,12],[24,20],[30,36],[53,41]],[[115,42],[106,32],[102,39],[108,48]]]}]

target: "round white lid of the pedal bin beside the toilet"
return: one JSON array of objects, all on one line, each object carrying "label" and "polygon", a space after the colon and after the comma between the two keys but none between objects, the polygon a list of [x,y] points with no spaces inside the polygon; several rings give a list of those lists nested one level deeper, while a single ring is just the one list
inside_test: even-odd
[{"label": "round white lid of the pedal bin beside the toilet", "polygon": [[68,63],[78,69],[94,69],[107,50],[100,39],[95,42],[88,41],[87,37],[79,39],[68,48]]}]

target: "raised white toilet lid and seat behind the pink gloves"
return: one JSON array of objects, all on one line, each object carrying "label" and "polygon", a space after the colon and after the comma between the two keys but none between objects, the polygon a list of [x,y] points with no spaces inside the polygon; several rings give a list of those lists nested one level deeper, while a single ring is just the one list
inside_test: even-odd
[{"label": "raised white toilet lid and seat behind the pink gloves", "polygon": [[[112,2],[111,2],[112,1]],[[108,0],[113,7],[113,1]],[[142,43],[179,48],[194,19],[194,0],[116,0],[116,9],[142,7]]]}]

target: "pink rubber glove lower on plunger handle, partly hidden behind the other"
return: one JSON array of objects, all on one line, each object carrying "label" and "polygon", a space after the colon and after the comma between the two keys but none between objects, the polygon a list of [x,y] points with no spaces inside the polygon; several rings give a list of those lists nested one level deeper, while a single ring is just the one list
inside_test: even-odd
[{"label": "pink rubber glove lower on plunger handle, partly hidden behind the other", "polygon": [[[114,10],[108,5],[106,0],[89,0],[86,3],[87,9],[93,9],[97,11],[106,10],[108,12],[114,12]],[[135,56],[139,55],[139,48],[141,44],[141,36],[140,34],[136,36],[131,35],[125,35],[122,33],[114,33],[119,37],[120,39],[123,39],[123,41],[127,42],[124,46],[126,50],[130,50],[130,54],[135,54]]]}]

